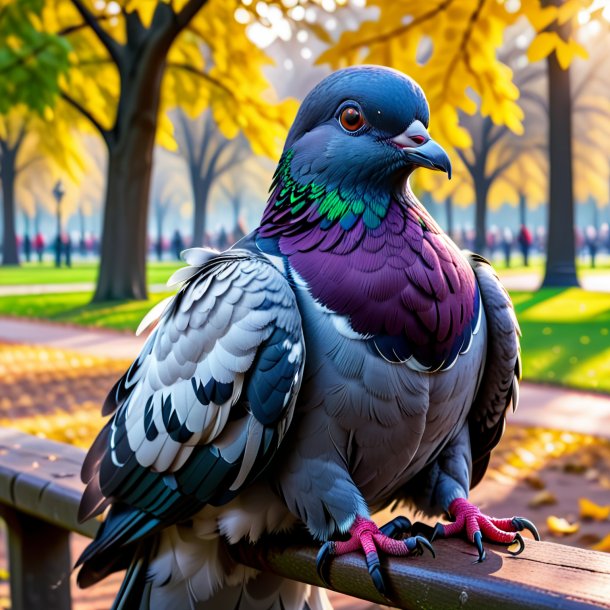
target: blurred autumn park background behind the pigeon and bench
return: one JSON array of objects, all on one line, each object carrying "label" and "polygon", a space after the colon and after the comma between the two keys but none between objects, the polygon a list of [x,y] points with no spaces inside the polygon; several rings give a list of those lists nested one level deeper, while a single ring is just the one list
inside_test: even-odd
[{"label": "blurred autumn park background behind the pigeon and bench", "polygon": [[299,101],[382,64],[452,159],[414,191],[523,331],[476,497],[610,550],[609,34],[608,0],[0,0],[0,424],[88,446],[180,252],[255,228]]}]

